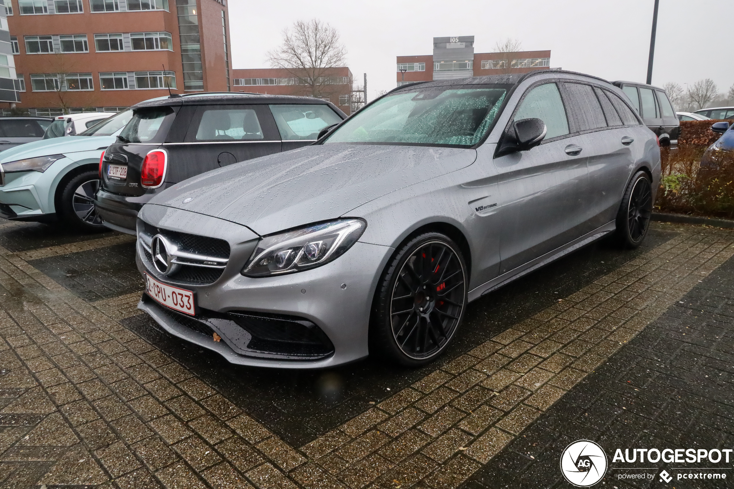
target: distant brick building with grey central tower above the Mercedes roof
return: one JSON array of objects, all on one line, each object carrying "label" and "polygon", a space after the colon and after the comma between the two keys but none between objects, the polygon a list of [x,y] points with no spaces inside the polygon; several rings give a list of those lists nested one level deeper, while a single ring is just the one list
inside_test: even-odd
[{"label": "distant brick building with grey central tower above the Mercedes roof", "polygon": [[[434,37],[433,54],[397,56],[397,84],[547,70],[551,51],[475,53],[474,36]],[[404,71],[401,71],[404,70]]]}]

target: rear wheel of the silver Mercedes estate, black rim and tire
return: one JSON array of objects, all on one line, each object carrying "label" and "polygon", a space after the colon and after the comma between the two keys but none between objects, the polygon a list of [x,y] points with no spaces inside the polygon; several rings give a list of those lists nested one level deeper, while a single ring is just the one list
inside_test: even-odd
[{"label": "rear wheel of the silver Mercedes estate, black rim and tire", "polygon": [[617,243],[622,248],[637,248],[650,229],[653,213],[653,188],[645,172],[637,172],[622,197],[617,213]]}]

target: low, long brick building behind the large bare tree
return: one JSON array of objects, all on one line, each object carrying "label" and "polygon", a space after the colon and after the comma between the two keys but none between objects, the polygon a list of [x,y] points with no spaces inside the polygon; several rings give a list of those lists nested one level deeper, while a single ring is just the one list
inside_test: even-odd
[{"label": "low, long brick building behind the large bare tree", "polygon": [[[297,73],[295,73],[297,74]],[[348,67],[327,68],[319,73],[318,98],[329,100],[346,114],[352,101],[352,71]],[[313,95],[310,85],[294,72],[283,68],[232,70],[232,91],[270,95]]]}]

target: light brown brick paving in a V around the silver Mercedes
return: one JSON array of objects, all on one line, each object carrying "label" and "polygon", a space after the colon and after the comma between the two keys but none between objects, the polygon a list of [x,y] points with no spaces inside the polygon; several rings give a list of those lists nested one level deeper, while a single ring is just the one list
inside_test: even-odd
[{"label": "light brown brick paving in a V around the silver Mercedes", "polygon": [[15,423],[4,441],[28,451],[0,465],[43,452],[47,485],[457,487],[734,254],[734,232],[699,231],[683,227],[299,449],[120,326],[137,293],[90,304],[0,248],[1,414]]}]

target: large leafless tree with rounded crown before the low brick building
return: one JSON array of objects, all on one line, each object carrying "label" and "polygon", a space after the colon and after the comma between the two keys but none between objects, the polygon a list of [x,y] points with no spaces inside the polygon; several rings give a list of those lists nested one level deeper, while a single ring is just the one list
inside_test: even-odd
[{"label": "large leafless tree with rounded crown before the low brick building", "polygon": [[[283,44],[268,53],[271,67],[283,68],[302,85],[304,95],[327,98],[337,92],[335,67],[346,65],[346,48],[339,33],[328,23],[297,21],[283,30]],[[352,80],[348,81],[352,86]]]}]

